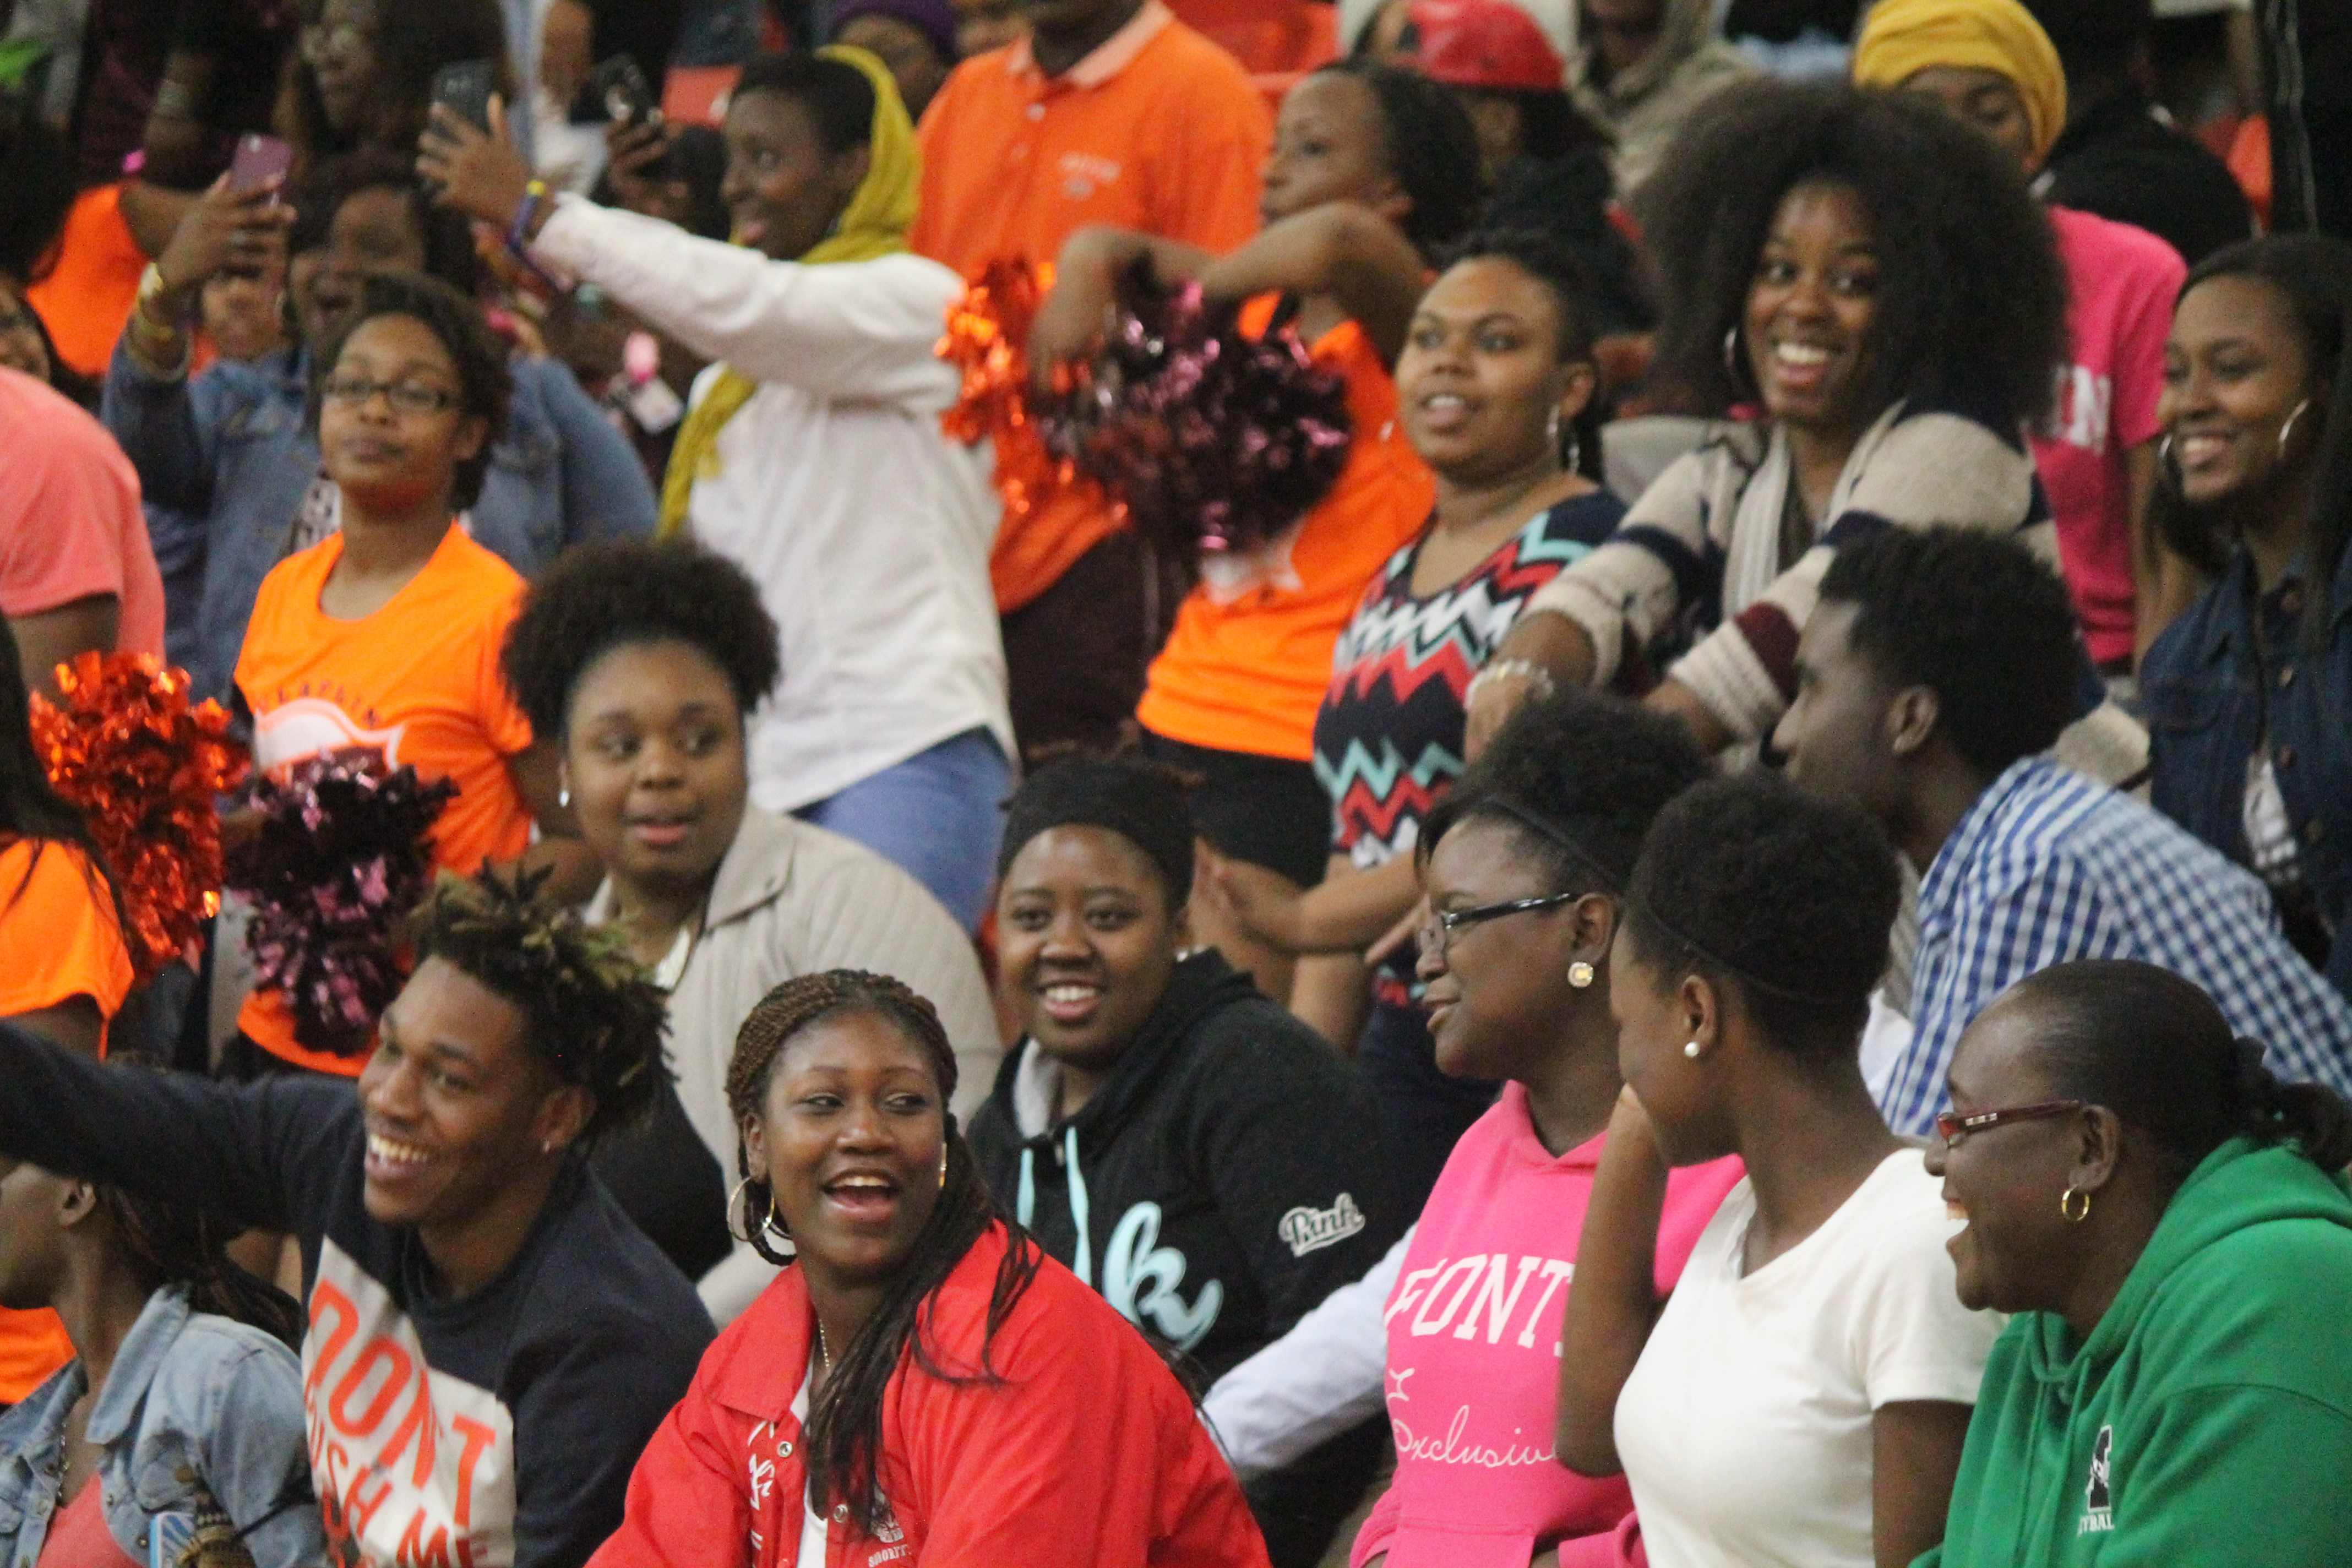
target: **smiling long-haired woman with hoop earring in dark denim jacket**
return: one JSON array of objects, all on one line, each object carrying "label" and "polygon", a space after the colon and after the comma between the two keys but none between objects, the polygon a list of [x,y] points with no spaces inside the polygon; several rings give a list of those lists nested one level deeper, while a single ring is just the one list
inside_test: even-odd
[{"label": "smiling long-haired woman with hoop earring in dark denim jacket", "polygon": [[2150,797],[2249,865],[2352,997],[2352,244],[2190,273],[2164,350],[2166,503],[2227,569],[2147,654]]}]

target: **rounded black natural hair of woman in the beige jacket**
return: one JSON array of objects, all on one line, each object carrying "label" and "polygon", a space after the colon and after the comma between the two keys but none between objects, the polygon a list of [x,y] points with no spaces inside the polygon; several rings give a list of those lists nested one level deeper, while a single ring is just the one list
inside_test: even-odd
[{"label": "rounded black natural hair of woman in the beige jacket", "polygon": [[715,663],[750,712],[776,689],[776,621],[760,585],[689,538],[574,545],[532,583],[506,630],[506,684],[532,731],[569,729],[581,672],[619,646],[682,642]]}]

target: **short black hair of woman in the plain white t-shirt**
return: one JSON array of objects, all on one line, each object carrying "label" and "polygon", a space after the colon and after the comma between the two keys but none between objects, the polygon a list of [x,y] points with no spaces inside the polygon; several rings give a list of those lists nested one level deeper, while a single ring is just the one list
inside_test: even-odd
[{"label": "short black hair of woman in the plain white t-shirt", "polygon": [[1748,769],[1658,813],[1621,940],[1668,976],[1733,987],[1776,1048],[1851,1063],[1900,903],[1877,823]]}]

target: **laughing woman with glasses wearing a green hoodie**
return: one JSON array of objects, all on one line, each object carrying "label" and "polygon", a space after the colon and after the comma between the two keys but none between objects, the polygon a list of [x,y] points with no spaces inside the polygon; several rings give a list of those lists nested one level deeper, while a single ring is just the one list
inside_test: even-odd
[{"label": "laughing woman with glasses wearing a green hoodie", "polygon": [[2013,985],[1926,1168],[1992,1347],[1924,1568],[2352,1561],[2352,1110],[2152,964]]}]

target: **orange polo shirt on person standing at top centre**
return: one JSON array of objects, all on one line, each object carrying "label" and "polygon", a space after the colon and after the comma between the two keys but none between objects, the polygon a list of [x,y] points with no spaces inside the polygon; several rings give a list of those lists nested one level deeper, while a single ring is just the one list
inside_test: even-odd
[{"label": "orange polo shirt on person standing at top centre", "polygon": [[[910,242],[964,277],[1049,263],[1091,223],[1223,254],[1258,233],[1272,134],[1240,61],[1145,0],[1056,78],[1025,38],[955,68],[922,118]],[[1075,501],[1007,517],[988,562],[997,609],[1035,599],[1115,527]]]}]

